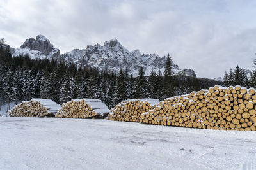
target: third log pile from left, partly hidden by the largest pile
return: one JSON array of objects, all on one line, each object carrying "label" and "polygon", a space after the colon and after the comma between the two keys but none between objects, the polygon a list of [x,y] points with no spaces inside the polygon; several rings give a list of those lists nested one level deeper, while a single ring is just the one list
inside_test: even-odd
[{"label": "third log pile from left, partly hidden by the largest pile", "polygon": [[108,120],[140,122],[140,115],[152,110],[159,99],[129,99],[122,101],[109,113]]}]

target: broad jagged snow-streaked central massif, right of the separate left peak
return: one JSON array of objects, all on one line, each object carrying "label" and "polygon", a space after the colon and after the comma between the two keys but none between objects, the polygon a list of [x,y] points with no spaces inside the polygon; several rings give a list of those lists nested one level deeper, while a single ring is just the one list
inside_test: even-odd
[{"label": "broad jagged snow-streaked central massif, right of the separate left peak", "polygon": [[[88,45],[83,50],[72,50],[72,52],[61,55],[61,58],[77,66],[98,67],[100,70],[117,72],[120,69],[127,69],[130,74],[136,75],[142,66],[145,75],[149,76],[151,69],[163,72],[164,63],[167,57],[159,57],[156,54],[141,54],[140,50],[129,52],[122,46],[117,39],[106,41],[104,46]],[[172,61],[171,61],[172,62]],[[173,62],[175,73],[180,71],[179,67]]]}]

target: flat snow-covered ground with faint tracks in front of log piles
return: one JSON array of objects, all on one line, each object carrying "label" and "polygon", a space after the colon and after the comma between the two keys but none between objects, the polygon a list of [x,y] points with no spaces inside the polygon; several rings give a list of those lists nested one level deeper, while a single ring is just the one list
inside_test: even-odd
[{"label": "flat snow-covered ground with faint tracks in front of log piles", "polygon": [[256,132],[1,117],[0,169],[256,169]]}]

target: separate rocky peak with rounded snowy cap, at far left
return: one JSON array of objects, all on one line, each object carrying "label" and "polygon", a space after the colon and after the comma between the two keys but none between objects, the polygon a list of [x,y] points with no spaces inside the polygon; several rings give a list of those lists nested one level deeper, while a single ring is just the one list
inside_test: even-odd
[{"label": "separate rocky peak with rounded snowy cap, at far left", "polygon": [[20,48],[38,50],[39,52],[42,52],[44,55],[48,55],[52,50],[54,50],[53,45],[50,43],[50,41],[42,35],[36,36],[36,39],[26,39],[25,43],[21,45]]}]

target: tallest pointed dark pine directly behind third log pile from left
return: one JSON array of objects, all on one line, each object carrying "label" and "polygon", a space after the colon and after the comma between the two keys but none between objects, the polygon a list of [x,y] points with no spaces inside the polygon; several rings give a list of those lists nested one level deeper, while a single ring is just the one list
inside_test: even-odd
[{"label": "tallest pointed dark pine directly behind third log pile from left", "polygon": [[138,98],[145,98],[147,97],[147,80],[144,76],[145,72],[143,71],[143,67],[140,67],[138,77],[136,78],[135,83],[135,92],[134,96]]}]

